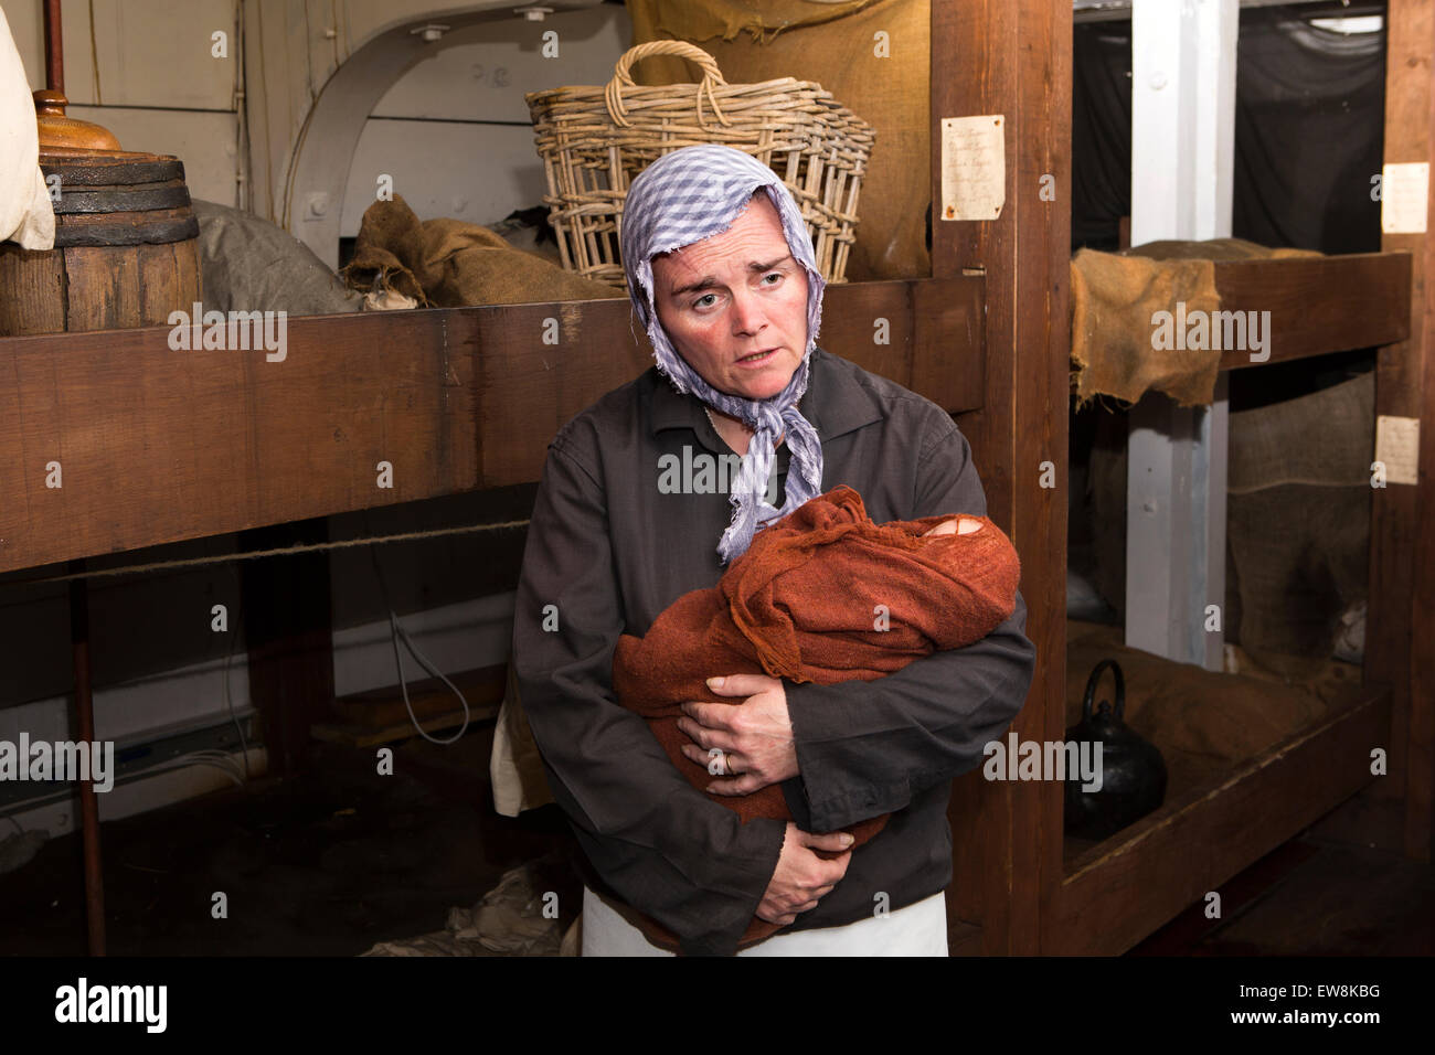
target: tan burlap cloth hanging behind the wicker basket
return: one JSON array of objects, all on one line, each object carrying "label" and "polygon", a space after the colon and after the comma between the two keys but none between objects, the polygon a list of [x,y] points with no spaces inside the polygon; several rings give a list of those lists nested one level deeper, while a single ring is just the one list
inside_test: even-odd
[{"label": "tan burlap cloth hanging behind the wicker basket", "polygon": [[[877,131],[857,205],[850,281],[931,274],[931,4],[928,0],[627,0],[633,43],[687,40],[710,52],[729,83],[815,80]],[[878,37],[883,33],[885,37]],[[742,34],[742,36],[739,36]],[[878,57],[885,40],[890,57]],[[687,83],[684,59],[644,59],[640,85]]]}]

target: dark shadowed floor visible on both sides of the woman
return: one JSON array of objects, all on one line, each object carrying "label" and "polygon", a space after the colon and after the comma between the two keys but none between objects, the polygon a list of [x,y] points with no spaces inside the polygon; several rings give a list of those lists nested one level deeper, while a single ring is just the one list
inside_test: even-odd
[{"label": "dark shadowed floor visible on both sides of the woman", "polygon": [[[110,955],[353,956],[442,930],[509,867],[571,847],[554,807],[498,817],[491,725],[459,745],[409,741],[395,775],[372,752],[320,745],[294,781],[257,781],[106,824]],[[1191,910],[1131,955],[1429,956],[1435,870],[1304,833],[1223,887],[1223,919]],[[577,880],[560,893],[577,910]],[[210,896],[230,899],[227,926]],[[79,840],[52,840],[0,876],[0,956],[83,955]]]}]

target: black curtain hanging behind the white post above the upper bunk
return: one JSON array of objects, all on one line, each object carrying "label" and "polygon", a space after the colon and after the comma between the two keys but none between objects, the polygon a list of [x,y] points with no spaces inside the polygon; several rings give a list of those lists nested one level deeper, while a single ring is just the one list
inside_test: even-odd
[{"label": "black curtain hanging behind the white post above the upper bunk", "polygon": [[[1343,34],[1300,6],[1241,11],[1231,233],[1322,253],[1380,248],[1385,30]],[[1073,33],[1072,248],[1116,247],[1131,212],[1131,23]]]}]

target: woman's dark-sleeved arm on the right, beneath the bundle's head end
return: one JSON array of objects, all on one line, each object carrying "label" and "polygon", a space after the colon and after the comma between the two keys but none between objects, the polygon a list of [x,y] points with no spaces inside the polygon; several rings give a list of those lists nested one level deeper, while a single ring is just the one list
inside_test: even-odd
[{"label": "woman's dark-sleeved arm on the right, beneath the bundle's head end", "polygon": [[[986,515],[971,445],[956,426],[918,464],[904,520]],[[980,642],[934,652],[875,682],[784,680],[799,777],[784,792],[799,827],[834,831],[904,808],[917,792],[980,765],[1022,709],[1036,663],[1026,601]]]}]

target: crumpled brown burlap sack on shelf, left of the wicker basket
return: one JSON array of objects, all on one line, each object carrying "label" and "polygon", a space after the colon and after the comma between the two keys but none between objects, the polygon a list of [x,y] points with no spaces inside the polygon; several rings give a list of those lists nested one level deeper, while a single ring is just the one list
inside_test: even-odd
[{"label": "crumpled brown burlap sack on shelf, left of the wicker basket", "polygon": [[486,227],[419,220],[399,195],[364,210],[343,276],[363,293],[397,290],[425,307],[627,297],[514,248]]}]

